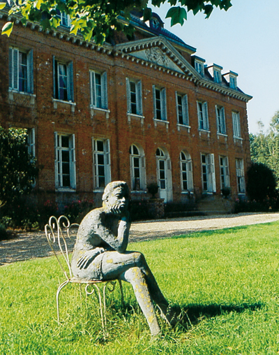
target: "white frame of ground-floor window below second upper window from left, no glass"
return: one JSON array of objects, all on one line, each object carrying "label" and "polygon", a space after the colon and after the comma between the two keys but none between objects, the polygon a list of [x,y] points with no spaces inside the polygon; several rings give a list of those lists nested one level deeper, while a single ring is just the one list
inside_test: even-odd
[{"label": "white frame of ground-floor window below second upper window from left, no glass", "polygon": [[[69,138],[69,147],[62,147],[62,137]],[[55,187],[61,191],[76,189],[75,173],[75,134],[54,132],[54,150],[55,150]],[[63,161],[62,152],[69,152],[69,180],[70,186],[63,186]],[[65,171],[64,171],[65,172]]]}]

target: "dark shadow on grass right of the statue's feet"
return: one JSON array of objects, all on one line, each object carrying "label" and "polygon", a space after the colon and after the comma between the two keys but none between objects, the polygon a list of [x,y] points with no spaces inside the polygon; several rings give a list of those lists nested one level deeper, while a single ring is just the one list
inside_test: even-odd
[{"label": "dark shadow on grass right of the statue's feet", "polygon": [[183,305],[182,307],[174,306],[176,314],[181,314],[181,321],[179,324],[184,326],[186,329],[197,325],[203,319],[210,319],[213,317],[218,317],[223,314],[230,312],[243,313],[246,310],[255,312],[255,310],[260,310],[264,304],[253,303],[248,305],[243,303],[242,305]]}]

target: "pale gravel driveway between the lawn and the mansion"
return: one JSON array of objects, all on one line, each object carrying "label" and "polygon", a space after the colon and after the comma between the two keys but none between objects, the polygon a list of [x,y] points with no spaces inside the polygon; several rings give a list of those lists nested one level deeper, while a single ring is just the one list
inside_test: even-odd
[{"label": "pale gravel driveway between the lawn and the mansion", "polygon": [[[134,222],[130,229],[130,242],[167,238],[193,231],[223,229],[234,226],[246,226],[274,222],[279,213],[239,213],[237,215],[218,215],[202,217],[183,217],[160,219],[147,222]],[[69,243],[73,249],[75,240]],[[42,231],[17,233],[10,240],[0,241],[0,266],[15,261],[42,258],[52,255]]]}]

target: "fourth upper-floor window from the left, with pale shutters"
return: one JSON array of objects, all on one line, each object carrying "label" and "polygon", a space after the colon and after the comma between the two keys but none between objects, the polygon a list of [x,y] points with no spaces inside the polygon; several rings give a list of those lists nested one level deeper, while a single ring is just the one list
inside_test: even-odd
[{"label": "fourth upper-floor window from the left, with pale shutters", "polygon": [[142,115],[142,82],[126,78],[127,112]]}]

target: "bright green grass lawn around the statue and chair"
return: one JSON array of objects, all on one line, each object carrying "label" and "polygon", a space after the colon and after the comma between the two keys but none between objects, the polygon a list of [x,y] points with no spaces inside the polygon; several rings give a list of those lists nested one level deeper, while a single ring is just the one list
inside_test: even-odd
[{"label": "bright green grass lawn around the statue and chair", "polygon": [[143,252],[181,324],[150,341],[130,285],[107,296],[103,340],[95,298],[63,280],[53,258],[0,267],[0,354],[278,354],[279,223],[130,244]]}]

